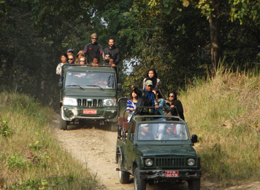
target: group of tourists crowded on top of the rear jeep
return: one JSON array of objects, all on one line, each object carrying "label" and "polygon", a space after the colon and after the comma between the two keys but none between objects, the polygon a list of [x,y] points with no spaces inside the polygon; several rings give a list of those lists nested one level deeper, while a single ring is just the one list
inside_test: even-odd
[{"label": "group of tourists crowded on top of the rear jeep", "polygon": [[[97,43],[98,36],[96,33],[91,34],[91,43],[86,44],[83,50],[80,50],[76,57],[73,49],[68,49],[67,53],[61,55],[61,63],[56,68],[56,73],[61,75],[61,69],[64,64],[107,65],[115,67],[120,61],[119,49],[115,47],[115,40],[108,40],[108,47],[103,50],[102,46]],[[102,55],[103,61],[100,62],[99,56]]]}]

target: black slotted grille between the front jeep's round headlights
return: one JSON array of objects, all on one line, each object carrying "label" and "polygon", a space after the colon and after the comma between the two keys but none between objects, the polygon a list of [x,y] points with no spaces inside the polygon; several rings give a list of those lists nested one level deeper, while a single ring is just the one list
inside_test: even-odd
[{"label": "black slotted grille between the front jeep's round headlights", "polygon": [[156,158],[156,167],[182,167],[185,166],[185,158]]}]

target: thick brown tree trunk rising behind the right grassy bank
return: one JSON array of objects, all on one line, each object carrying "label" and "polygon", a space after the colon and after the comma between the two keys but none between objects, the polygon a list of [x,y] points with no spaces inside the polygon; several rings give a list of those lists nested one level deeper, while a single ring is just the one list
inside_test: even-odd
[{"label": "thick brown tree trunk rising behind the right grassy bank", "polygon": [[209,23],[210,23],[210,33],[211,33],[211,63],[213,65],[214,72],[216,72],[216,66],[222,60],[222,46],[220,41],[220,30],[219,30],[219,6],[214,4],[214,11],[212,12]]}]

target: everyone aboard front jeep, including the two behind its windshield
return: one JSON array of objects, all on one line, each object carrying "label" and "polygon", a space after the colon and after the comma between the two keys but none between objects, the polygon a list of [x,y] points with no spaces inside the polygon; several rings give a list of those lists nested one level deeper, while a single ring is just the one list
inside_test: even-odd
[{"label": "everyone aboard front jeep, including the two behind its windshield", "polygon": [[[153,121],[159,121],[159,123],[155,124],[140,125],[138,140],[180,138],[180,135],[177,133],[177,125],[167,126],[163,123],[166,119],[174,120],[174,118],[158,116],[179,116],[184,121],[182,103],[177,99],[177,92],[175,91],[168,93],[168,98],[165,100],[162,96],[160,85],[161,81],[158,79],[157,72],[154,69],[149,69],[143,81],[142,89],[138,89],[134,85],[131,86],[132,91],[130,98],[127,100],[127,122],[130,122],[134,110],[135,114],[138,115],[156,115],[157,117],[152,117],[152,119]],[[146,109],[145,107],[154,108]],[[149,125],[155,126],[149,129]]]}]

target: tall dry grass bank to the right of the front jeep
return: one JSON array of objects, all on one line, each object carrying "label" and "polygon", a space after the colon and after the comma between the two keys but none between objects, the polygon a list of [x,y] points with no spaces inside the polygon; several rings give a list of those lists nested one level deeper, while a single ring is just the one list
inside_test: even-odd
[{"label": "tall dry grass bank to the right of the front jeep", "polygon": [[220,66],[214,78],[197,80],[179,99],[204,178],[222,185],[260,179],[260,75]]}]

